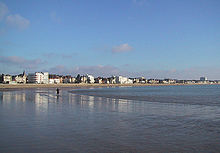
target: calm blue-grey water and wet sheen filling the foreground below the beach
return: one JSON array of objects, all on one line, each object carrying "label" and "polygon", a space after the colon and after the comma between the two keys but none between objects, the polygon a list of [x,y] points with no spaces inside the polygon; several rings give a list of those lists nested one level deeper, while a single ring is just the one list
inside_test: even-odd
[{"label": "calm blue-grey water and wet sheen filling the foreground below the beach", "polygon": [[220,152],[220,86],[0,91],[0,152]]}]

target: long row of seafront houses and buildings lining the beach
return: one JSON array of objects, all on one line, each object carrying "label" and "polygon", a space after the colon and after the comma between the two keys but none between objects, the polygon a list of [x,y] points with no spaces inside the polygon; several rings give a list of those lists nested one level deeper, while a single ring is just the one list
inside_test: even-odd
[{"label": "long row of seafront houses and buildings lining the beach", "polygon": [[177,79],[145,79],[144,77],[127,78],[123,76],[112,77],[93,77],[92,75],[77,75],[72,77],[71,75],[56,75],[49,74],[48,72],[35,72],[28,75],[23,72],[19,75],[0,75],[0,83],[4,84],[60,84],[60,83],[97,83],[97,84],[220,84],[220,80],[208,80],[207,77],[200,77],[199,80],[177,80]]}]

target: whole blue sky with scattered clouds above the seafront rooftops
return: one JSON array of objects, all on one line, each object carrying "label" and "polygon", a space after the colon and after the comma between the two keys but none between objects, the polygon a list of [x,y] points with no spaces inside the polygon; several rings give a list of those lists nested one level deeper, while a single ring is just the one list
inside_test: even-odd
[{"label": "whole blue sky with scattered clouds above the seafront rooftops", "polygon": [[220,80],[219,0],[0,0],[0,73]]}]

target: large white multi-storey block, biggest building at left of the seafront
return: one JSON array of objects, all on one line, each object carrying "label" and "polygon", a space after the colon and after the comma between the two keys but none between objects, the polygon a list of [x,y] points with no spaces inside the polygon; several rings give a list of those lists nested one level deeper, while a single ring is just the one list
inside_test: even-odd
[{"label": "large white multi-storey block, biggest building at left of the seafront", "polygon": [[49,73],[48,72],[35,72],[28,74],[29,83],[39,83],[48,84],[49,83]]}]

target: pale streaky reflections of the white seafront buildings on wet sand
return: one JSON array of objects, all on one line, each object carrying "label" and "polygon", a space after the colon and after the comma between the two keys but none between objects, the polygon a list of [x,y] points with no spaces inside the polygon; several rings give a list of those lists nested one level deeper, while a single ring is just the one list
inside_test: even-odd
[{"label": "pale streaky reflections of the white seafront buildings on wet sand", "polygon": [[113,112],[130,112],[133,105],[131,101],[125,99],[112,99],[104,97],[94,97],[87,95],[74,95],[69,92],[56,95],[53,90],[33,90],[33,91],[13,91],[2,92],[1,101],[3,104],[17,102],[34,102],[36,111],[47,111],[49,103],[69,102],[69,104],[87,109],[90,111],[113,111]]}]

